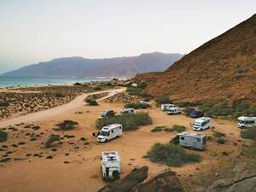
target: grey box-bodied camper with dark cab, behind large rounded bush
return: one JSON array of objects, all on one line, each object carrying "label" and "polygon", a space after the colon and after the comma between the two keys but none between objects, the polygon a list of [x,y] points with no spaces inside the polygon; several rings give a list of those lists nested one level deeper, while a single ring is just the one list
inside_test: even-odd
[{"label": "grey box-bodied camper with dark cab, behind large rounded bush", "polygon": [[202,134],[182,132],[172,138],[170,143],[178,144],[185,148],[204,150],[207,145],[207,138]]}]

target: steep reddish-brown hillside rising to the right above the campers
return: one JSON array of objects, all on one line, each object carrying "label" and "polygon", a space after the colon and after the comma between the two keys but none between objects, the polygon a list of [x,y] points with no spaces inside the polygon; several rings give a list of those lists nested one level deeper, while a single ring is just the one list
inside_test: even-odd
[{"label": "steep reddish-brown hillside rising to the right above the campers", "polygon": [[256,102],[256,15],[213,38],[175,62],[164,73],[143,73],[145,92],[179,102]]}]

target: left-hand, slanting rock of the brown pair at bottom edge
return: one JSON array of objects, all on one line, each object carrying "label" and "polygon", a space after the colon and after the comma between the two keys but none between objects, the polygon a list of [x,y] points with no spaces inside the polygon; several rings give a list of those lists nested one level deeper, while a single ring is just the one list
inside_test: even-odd
[{"label": "left-hand, slanting rock of the brown pair at bottom edge", "polygon": [[124,178],[104,186],[98,192],[131,192],[138,183],[142,183],[148,177],[148,166],[143,166],[131,172]]}]

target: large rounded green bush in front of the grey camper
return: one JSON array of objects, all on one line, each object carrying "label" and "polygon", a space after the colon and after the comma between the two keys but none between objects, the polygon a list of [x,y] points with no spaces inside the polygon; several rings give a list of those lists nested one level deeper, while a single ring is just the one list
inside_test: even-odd
[{"label": "large rounded green bush in front of the grey camper", "polygon": [[154,163],[166,164],[166,166],[183,166],[201,160],[198,154],[190,154],[184,148],[173,143],[155,143],[148,151],[147,157]]}]

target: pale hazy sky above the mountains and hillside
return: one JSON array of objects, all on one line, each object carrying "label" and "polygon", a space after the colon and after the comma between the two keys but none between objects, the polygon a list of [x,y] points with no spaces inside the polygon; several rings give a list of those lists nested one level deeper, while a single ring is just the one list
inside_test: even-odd
[{"label": "pale hazy sky above the mountains and hillside", "polygon": [[0,73],[56,57],[189,53],[255,0],[0,0]]}]

